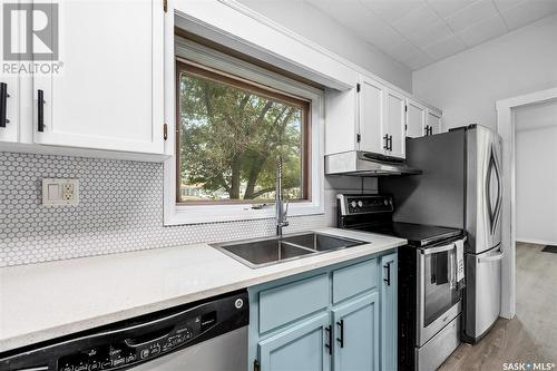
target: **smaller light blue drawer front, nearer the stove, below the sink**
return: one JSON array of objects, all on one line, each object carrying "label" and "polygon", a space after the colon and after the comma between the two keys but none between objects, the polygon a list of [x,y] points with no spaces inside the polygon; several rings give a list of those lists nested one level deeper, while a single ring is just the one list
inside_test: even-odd
[{"label": "smaller light blue drawer front, nearer the stove, below the sink", "polygon": [[333,303],[372,290],[378,284],[375,258],[333,272]]}]

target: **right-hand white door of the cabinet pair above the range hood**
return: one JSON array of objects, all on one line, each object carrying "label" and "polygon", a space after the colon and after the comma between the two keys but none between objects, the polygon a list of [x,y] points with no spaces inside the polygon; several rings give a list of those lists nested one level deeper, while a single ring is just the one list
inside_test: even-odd
[{"label": "right-hand white door of the cabinet pair above the range hood", "polygon": [[392,90],[387,92],[387,128],[389,136],[388,155],[404,158],[405,154],[405,98]]}]

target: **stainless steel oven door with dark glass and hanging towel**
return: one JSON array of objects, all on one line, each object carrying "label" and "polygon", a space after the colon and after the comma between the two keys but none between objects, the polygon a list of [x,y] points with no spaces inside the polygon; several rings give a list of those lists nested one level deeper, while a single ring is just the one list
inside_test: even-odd
[{"label": "stainless steel oven door with dark glass and hanging towel", "polygon": [[417,343],[422,346],[461,311],[455,242],[417,251]]}]

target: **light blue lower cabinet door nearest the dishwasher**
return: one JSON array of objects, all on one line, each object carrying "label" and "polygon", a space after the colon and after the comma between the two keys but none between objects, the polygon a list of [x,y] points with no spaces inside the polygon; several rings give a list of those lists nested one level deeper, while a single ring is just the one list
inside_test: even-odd
[{"label": "light blue lower cabinet door nearest the dishwasher", "polygon": [[330,371],[330,322],[323,313],[261,341],[261,371]]}]

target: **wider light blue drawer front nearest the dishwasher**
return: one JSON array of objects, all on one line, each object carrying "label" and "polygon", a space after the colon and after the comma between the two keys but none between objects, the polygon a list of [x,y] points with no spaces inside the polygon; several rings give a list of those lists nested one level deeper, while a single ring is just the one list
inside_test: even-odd
[{"label": "wider light blue drawer front nearest the dishwasher", "polygon": [[329,300],[326,274],[263,291],[260,293],[260,333],[324,310]]}]

